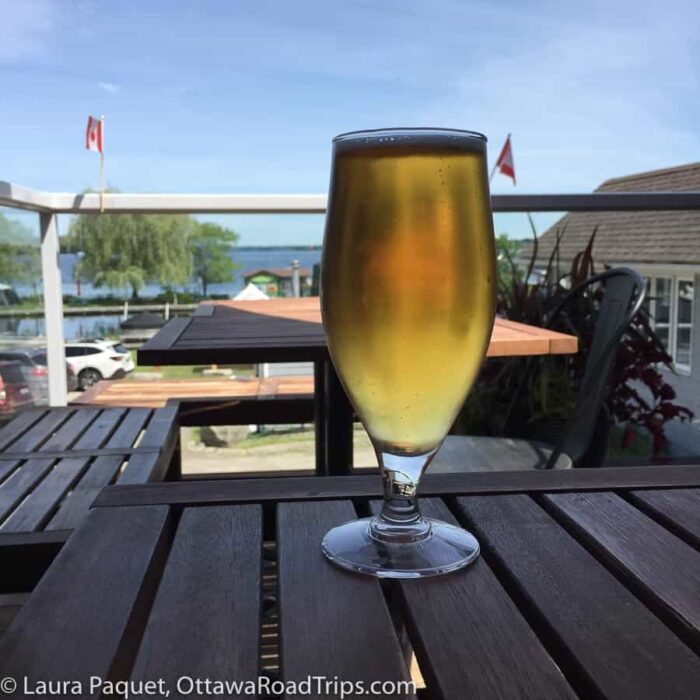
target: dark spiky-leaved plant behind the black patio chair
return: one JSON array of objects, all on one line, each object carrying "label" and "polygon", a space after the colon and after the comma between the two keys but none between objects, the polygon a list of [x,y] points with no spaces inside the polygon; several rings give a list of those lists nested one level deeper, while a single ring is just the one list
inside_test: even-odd
[{"label": "dark spiky-leaved plant behind the black patio chair", "polygon": [[[593,261],[593,231],[586,248],[579,252],[570,267],[562,272],[560,243],[565,228],[556,232],[556,241],[544,270],[536,276],[538,244],[533,229],[532,253],[524,270],[513,256],[504,257],[511,274],[499,277],[498,311],[506,318],[535,326],[544,326],[551,312],[569,290],[596,273]],[[588,352],[595,332],[601,290],[582,294],[562,315],[555,330],[579,338],[580,351],[574,355],[541,358],[540,371],[534,372],[524,392],[522,405],[516,408],[522,435],[532,434],[532,425],[546,419],[567,418],[579,395]],[[664,426],[674,419],[691,419],[690,410],[674,403],[676,393],[659,371],[672,371],[672,360],[653,330],[652,319],[642,308],[632,320],[618,349],[610,376],[606,408],[614,423],[625,426],[623,442],[633,438],[631,426],[640,426],[651,434],[654,456],[667,444]],[[477,387],[467,402],[457,426],[458,431],[499,434],[503,429],[511,399],[521,381],[522,359],[489,362]],[[478,402],[478,404],[477,404]]]}]

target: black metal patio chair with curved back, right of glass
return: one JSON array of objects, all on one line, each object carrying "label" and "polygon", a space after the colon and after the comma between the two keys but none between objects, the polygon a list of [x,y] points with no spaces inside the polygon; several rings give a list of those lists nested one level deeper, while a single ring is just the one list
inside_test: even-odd
[{"label": "black metal patio chair with curved back, right of glass", "polygon": [[[644,280],[625,267],[607,270],[572,289],[552,311],[546,324],[552,328],[565,309],[593,285],[604,284],[595,332],[581,391],[571,417],[554,445],[505,437],[462,437],[445,439],[430,465],[430,472],[567,469],[578,466],[591,444],[622,336],[646,296]],[[503,434],[512,434],[516,406],[529,386],[532,359],[511,402]]]}]

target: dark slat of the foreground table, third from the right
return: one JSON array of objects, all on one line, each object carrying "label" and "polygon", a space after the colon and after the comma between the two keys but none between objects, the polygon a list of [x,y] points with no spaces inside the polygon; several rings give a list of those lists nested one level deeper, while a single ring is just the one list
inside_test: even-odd
[{"label": "dark slat of the foreground table, third from the right", "polygon": [[457,509],[579,694],[694,696],[700,659],[531,498],[471,496]]}]

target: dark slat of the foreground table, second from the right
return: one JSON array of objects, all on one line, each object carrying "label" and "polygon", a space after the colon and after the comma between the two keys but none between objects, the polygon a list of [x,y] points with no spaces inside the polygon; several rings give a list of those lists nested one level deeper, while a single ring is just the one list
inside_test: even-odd
[{"label": "dark slat of the foreground table, second from the right", "polygon": [[561,493],[543,499],[700,651],[700,552],[615,494]]}]

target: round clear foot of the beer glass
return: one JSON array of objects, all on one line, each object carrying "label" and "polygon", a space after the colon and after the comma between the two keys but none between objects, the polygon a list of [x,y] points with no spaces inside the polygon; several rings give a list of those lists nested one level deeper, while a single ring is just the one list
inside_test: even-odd
[{"label": "round clear foot of the beer glass", "polygon": [[334,564],[378,578],[423,578],[461,569],[479,556],[476,538],[460,527],[425,518],[430,534],[419,542],[388,543],[370,536],[374,518],[334,527],[323,538],[323,553]]}]

